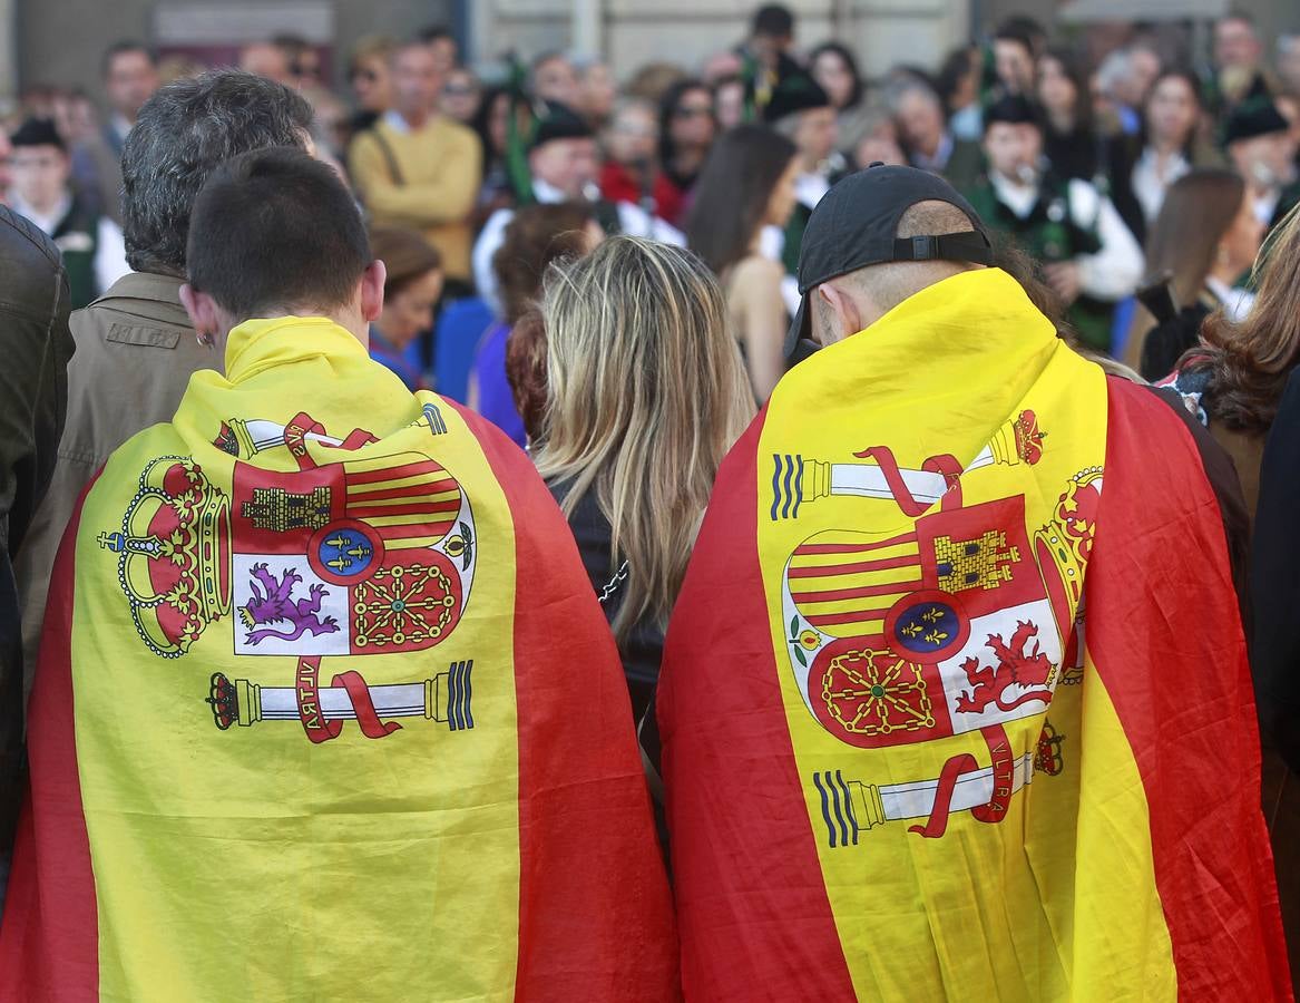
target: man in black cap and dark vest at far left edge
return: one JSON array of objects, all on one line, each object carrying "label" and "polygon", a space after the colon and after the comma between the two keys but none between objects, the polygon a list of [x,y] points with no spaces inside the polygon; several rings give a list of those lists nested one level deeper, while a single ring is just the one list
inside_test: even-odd
[{"label": "man in black cap and dark vest at far left edge", "polygon": [[72,306],[79,310],[99,291],[95,277],[99,216],[72,190],[72,159],[51,120],[29,118],[9,139],[13,208],[36,224],[62,252]]}]

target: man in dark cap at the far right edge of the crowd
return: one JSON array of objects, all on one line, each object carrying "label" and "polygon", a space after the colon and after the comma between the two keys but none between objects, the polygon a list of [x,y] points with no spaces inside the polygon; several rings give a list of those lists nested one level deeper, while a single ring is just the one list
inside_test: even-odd
[{"label": "man in dark cap at the far right edge of the crowd", "polygon": [[1291,124],[1271,98],[1252,98],[1228,114],[1223,147],[1254,199],[1254,215],[1275,226],[1300,202]]}]

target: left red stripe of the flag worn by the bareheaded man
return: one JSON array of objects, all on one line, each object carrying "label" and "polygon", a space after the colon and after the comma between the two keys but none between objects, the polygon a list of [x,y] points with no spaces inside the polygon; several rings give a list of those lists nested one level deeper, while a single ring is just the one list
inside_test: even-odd
[{"label": "left red stripe of the flag worn by the bareheaded man", "polygon": [[77,770],[72,637],[77,536],[96,471],[64,531],[27,709],[27,797],[4,921],[0,999],[96,999],[99,915]]}]

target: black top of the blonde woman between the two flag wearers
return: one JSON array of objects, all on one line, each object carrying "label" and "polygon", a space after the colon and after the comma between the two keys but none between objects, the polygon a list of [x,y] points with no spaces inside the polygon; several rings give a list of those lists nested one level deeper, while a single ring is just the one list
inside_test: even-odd
[{"label": "black top of the blonde woman between the two flag wearers", "polygon": [[[568,493],[568,481],[547,487],[555,501],[563,502]],[[595,591],[597,598],[601,600],[604,618],[614,623],[625,596],[627,568],[611,567],[610,537],[614,535],[614,529],[601,511],[594,490],[588,490],[573,514],[569,515],[569,529],[573,531],[578,554],[582,557],[582,567],[586,568],[588,578],[592,579],[592,588]],[[632,695],[632,717],[640,725],[642,715],[650,706],[650,697],[659,679],[659,662],[663,660],[663,631],[654,623],[653,617],[642,617],[632,626],[620,654],[623,657],[623,674],[627,676],[628,691]]]}]

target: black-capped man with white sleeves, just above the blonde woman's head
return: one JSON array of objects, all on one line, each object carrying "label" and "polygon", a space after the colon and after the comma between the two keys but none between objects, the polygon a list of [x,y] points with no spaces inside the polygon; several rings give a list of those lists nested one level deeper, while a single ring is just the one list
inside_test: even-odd
[{"label": "black-capped man with white sleeves, just above the blonde woman's head", "polygon": [[[607,202],[601,198],[597,178],[601,174],[595,133],[577,112],[563,104],[550,104],[537,122],[528,151],[528,169],[533,176],[536,202],[592,202],[595,219],[610,235],[649,237],[679,246],[685,245],[681,232],[651,216],[630,202]],[[474,285],[478,295],[494,311],[500,311],[497,297],[497,274],[493,256],[506,238],[506,226],[515,217],[514,209],[497,209],[488,217],[474,242]]]}]

